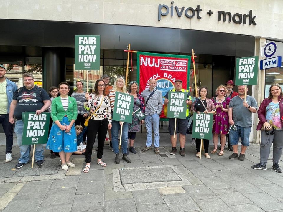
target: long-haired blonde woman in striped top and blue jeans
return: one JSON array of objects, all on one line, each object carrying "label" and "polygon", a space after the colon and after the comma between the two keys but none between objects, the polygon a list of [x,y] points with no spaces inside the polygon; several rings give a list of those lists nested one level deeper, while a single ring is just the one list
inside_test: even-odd
[{"label": "long-haired blonde woman in striped top and blue jeans", "polygon": [[[114,110],[116,91],[128,94],[126,83],[125,83],[125,80],[124,80],[123,76],[118,76],[118,78],[114,82],[113,90],[111,90],[110,93],[109,93],[112,113],[113,113],[113,110]],[[128,123],[118,122],[118,121],[112,120],[111,136],[112,136],[112,146],[113,146],[114,153],[115,153],[115,161],[114,162],[116,164],[120,163],[119,149],[118,149],[118,133],[119,133],[120,125],[121,126],[123,125],[123,130],[122,130],[122,152],[123,152],[123,158],[122,159],[125,160],[128,163],[131,163],[130,158],[128,158],[128,156],[127,156]]]}]

